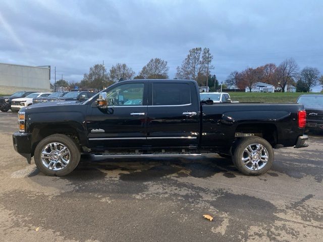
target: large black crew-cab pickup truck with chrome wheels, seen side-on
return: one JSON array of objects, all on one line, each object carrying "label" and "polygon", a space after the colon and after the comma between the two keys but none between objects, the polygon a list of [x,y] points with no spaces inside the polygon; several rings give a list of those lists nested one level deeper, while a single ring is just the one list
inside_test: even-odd
[{"label": "large black crew-cab pickup truck with chrome wheels, seen side-on", "polygon": [[47,175],[66,175],[83,153],[104,157],[230,156],[244,174],[270,169],[274,148],[307,147],[300,104],[200,101],[191,80],[128,80],[83,101],[18,113],[15,150]]}]

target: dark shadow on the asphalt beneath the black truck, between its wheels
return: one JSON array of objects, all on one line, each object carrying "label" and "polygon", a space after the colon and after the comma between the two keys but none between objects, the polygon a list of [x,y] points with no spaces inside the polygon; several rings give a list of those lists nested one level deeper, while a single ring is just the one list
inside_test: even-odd
[{"label": "dark shadow on the asphalt beneath the black truck, between its wheels", "polygon": [[124,181],[149,181],[167,175],[178,177],[210,177],[223,173],[228,178],[236,177],[238,172],[231,160],[225,158],[118,158],[97,159],[82,156],[78,167],[69,175],[69,180],[100,179],[114,176]]}]

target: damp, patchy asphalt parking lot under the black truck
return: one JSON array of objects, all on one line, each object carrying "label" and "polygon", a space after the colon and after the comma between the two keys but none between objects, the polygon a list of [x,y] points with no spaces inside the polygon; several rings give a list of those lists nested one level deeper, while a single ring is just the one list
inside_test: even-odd
[{"label": "damp, patchy asphalt parking lot under the black truck", "polygon": [[[94,159],[45,176],[12,145],[17,114],[0,112],[0,241],[321,241],[323,136],[275,151],[245,176],[218,155]],[[202,217],[214,217],[208,221]]]}]

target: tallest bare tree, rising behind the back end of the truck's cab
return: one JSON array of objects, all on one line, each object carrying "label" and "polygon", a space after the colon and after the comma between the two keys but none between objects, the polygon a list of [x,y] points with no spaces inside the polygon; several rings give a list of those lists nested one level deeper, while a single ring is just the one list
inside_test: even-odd
[{"label": "tallest bare tree, rising behind the back end of the truck's cab", "polygon": [[209,70],[213,69],[211,65],[213,55],[209,52],[208,48],[202,50],[201,47],[189,50],[186,58],[184,59],[181,67],[177,67],[177,79],[192,79],[197,80],[198,77],[208,77]]}]

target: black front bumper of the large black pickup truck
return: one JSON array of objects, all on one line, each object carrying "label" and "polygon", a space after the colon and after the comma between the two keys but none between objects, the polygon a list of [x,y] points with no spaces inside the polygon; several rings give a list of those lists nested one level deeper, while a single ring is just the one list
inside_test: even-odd
[{"label": "black front bumper of the large black pickup truck", "polygon": [[12,135],[14,149],[31,162],[31,134],[16,132]]}]

